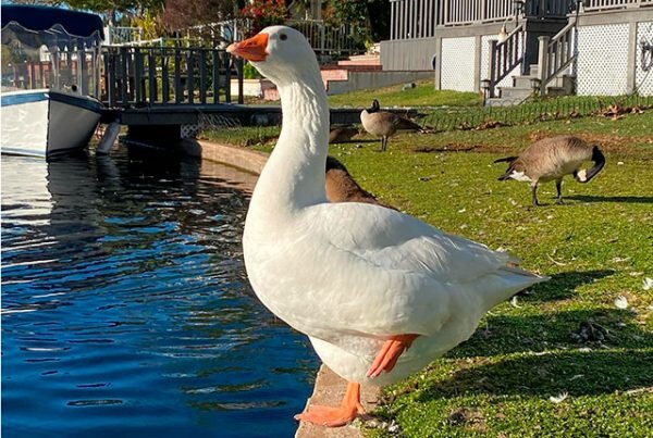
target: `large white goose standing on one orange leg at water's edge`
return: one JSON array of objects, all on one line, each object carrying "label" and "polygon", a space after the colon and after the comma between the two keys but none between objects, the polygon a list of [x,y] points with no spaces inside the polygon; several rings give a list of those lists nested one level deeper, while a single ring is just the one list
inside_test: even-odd
[{"label": "large white goose standing on one orange leg at water's edge", "polygon": [[493,305],[545,278],[395,210],[329,203],[329,105],[306,38],[272,26],[227,51],[276,85],[283,111],[245,222],[249,281],[349,381],[341,406],[309,406],[296,418],[343,425],[361,412],[360,383],[421,370],[469,338]]}]

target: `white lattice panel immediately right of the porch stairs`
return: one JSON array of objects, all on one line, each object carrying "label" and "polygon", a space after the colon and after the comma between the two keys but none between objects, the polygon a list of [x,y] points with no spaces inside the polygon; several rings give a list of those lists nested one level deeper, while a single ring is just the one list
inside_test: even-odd
[{"label": "white lattice panel immediately right of the porch stairs", "polygon": [[628,92],[628,23],[579,27],[578,95]]}]

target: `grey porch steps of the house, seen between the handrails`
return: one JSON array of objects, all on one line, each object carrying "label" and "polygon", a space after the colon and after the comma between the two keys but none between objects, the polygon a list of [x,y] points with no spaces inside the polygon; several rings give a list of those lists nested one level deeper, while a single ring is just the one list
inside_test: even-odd
[{"label": "grey porch steps of the house, seen between the handrails", "polygon": [[[513,76],[512,87],[496,87],[500,96],[486,99],[485,107],[510,107],[522,103],[533,96],[533,79],[539,79],[538,64],[530,65],[526,75]],[[569,74],[552,79],[546,86],[546,96],[571,96],[575,91],[576,76]]]}]

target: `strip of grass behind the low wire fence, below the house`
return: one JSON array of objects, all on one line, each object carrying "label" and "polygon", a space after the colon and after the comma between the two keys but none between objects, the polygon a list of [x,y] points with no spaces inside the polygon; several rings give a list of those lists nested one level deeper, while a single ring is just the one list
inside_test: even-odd
[{"label": "strip of grass behind the low wire fence, below the house", "polygon": [[416,88],[403,90],[403,85],[370,90],[350,91],[329,96],[331,107],[367,108],[372,99],[379,99],[381,107],[475,107],[482,104],[478,92],[435,90],[433,80],[420,80]]}]

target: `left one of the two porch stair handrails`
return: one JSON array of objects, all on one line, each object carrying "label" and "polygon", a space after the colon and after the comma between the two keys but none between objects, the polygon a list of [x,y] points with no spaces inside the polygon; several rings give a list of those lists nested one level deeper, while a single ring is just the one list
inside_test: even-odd
[{"label": "left one of the two porch stair handrails", "polygon": [[526,50],[525,37],[525,26],[520,24],[508,34],[504,41],[490,40],[490,83],[488,88],[490,97],[494,97],[496,85],[522,63]]}]

